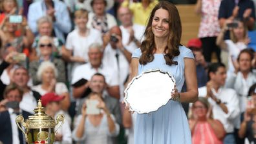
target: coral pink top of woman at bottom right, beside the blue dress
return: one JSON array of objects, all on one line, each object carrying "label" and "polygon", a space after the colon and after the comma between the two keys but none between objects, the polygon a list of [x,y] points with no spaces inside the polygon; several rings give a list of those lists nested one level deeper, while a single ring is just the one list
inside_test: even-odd
[{"label": "coral pink top of woman at bottom right, beside the blue dress", "polygon": [[193,144],[222,144],[208,122],[197,123],[192,134]]}]

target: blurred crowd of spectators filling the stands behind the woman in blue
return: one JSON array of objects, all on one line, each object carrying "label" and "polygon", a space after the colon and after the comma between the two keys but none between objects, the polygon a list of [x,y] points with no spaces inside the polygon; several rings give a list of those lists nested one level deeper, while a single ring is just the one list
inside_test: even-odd
[{"label": "blurred crowd of spectators filling the stands behind the woman in blue", "polygon": [[[49,116],[65,115],[54,143],[133,144],[123,90],[157,3],[1,0],[0,143],[25,144],[15,118],[41,99]],[[197,0],[198,37],[181,44],[197,67],[199,98],[183,104],[193,144],[256,143],[255,5]]]}]

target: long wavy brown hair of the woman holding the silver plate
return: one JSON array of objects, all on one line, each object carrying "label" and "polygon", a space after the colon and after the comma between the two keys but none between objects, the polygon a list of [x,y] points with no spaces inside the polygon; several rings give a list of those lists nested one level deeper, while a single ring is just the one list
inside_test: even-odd
[{"label": "long wavy brown hair of the woman holding the silver plate", "polygon": [[172,3],[168,1],[160,1],[155,8],[153,8],[149,21],[145,28],[144,36],[145,40],[142,42],[140,49],[142,50],[142,56],[139,59],[141,65],[146,65],[147,63],[153,61],[155,52],[155,42],[154,34],[152,32],[152,21],[156,10],[158,9],[167,10],[169,13],[169,37],[167,40],[167,46],[164,50],[164,59],[167,65],[174,64],[173,57],[178,56],[180,51],[178,46],[180,45],[180,39],[182,35],[182,26],[180,22],[180,15],[178,10]]}]

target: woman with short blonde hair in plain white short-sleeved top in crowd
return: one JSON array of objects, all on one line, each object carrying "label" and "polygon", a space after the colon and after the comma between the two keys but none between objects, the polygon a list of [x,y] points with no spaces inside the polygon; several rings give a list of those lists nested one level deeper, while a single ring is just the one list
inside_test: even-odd
[{"label": "woman with short blonde hair in plain white short-sleeved top in crowd", "polygon": [[74,14],[76,29],[67,36],[66,50],[67,60],[73,62],[73,68],[83,63],[87,63],[89,45],[92,43],[102,43],[101,33],[93,28],[87,28],[88,12],[77,10]]}]

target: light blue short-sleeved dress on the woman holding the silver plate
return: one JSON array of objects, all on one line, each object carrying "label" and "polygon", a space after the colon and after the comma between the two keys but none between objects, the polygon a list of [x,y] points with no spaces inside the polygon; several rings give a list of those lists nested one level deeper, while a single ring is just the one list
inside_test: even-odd
[{"label": "light blue short-sleeved dress on the woman holding the silver plate", "polygon": [[[147,65],[139,63],[138,74],[160,68],[175,77],[176,88],[180,92],[185,81],[184,57],[194,56],[185,46],[180,46],[179,50],[180,55],[173,59],[178,65],[166,65],[163,54],[154,54],[155,59],[152,62]],[[141,54],[140,48],[137,48],[132,57],[140,57]],[[191,132],[181,103],[169,100],[155,112],[138,114],[134,127],[134,144],[191,144]]]}]

